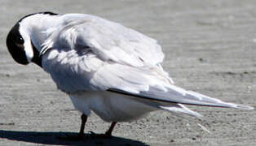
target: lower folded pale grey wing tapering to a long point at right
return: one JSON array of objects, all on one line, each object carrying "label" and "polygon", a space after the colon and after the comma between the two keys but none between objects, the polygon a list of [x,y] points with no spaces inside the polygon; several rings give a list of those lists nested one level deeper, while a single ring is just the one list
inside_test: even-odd
[{"label": "lower folded pale grey wing tapering to a long point at right", "polygon": [[131,95],[153,101],[163,101],[185,105],[204,105],[252,109],[246,105],[236,105],[207,97],[198,92],[187,91],[170,84],[165,76],[157,74],[157,68],[135,68],[109,65],[98,71],[92,84],[102,85],[110,92]]}]

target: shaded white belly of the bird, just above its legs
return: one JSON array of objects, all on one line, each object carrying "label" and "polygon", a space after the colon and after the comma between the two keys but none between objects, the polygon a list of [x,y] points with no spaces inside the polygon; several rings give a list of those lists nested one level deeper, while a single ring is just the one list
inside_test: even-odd
[{"label": "shaded white belly of the bird, just above its legs", "polygon": [[157,110],[134,97],[113,92],[77,92],[69,95],[76,110],[89,115],[90,110],[107,122],[126,122]]}]

